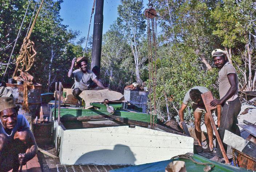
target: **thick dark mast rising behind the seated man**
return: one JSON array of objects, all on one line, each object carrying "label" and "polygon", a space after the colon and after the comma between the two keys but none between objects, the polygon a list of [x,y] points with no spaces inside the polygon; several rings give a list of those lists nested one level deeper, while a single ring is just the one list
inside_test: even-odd
[{"label": "thick dark mast rising behind the seated man", "polygon": [[103,4],[104,0],[96,0],[93,37],[92,37],[92,63],[91,69],[94,66],[100,68],[102,32],[103,32]]}]

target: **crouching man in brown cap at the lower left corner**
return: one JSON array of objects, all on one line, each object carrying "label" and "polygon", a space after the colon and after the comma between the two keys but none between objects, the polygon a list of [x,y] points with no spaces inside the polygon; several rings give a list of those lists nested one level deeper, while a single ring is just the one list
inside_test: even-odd
[{"label": "crouching man in brown cap at the lower left corner", "polygon": [[0,171],[18,171],[37,152],[37,145],[29,123],[12,97],[0,97]]}]

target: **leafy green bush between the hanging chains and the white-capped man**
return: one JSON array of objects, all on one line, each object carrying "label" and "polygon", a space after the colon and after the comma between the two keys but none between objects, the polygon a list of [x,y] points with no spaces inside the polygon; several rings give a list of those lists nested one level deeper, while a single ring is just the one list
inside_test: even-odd
[{"label": "leafy green bush between the hanging chains and the white-capped man", "polygon": [[[192,87],[204,86],[210,89],[215,97],[218,96],[216,89],[217,70],[205,71],[200,58],[193,49],[186,46],[176,47],[163,46],[159,49],[161,54],[157,60],[157,113],[166,117],[166,100],[171,117],[177,115],[185,93]],[[152,95],[151,95],[152,96]],[[177,110],[175,110],[175,108]],[[186,118],[185,114],[185,118]]]}]

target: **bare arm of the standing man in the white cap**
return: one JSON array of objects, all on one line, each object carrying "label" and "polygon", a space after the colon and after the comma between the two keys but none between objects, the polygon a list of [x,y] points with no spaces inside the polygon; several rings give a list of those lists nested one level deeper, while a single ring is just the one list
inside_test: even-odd
[{"label": "bare arm of the standing man in the white cap", "polygon": [[231,87],[228,89],[227,94],[224,97],[222,97],[220,100],[215,99],[211,101],[210,102],[211,106],[223,104],[225,101],[227,101],[230,97],[232,97],[236,93],[237,91],[236,90],[237,89],[236,74],[235,73],[228,74],[228,81]]}]

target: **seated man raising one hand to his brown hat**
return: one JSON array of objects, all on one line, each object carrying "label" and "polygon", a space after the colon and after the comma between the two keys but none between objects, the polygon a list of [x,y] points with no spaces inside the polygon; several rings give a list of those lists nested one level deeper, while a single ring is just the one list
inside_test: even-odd
[{"label": "seated man raising one hand to his brown hat", "polygon": [[[76,64],[75,64],[76,61]],[[73,71],[73,67],[78,68]],[[89,89],[90,79],[102,89],[108,89],[96,78],[97,76],[90,70],[88,70],[88,58],[79,57],[73,58],[71,67],[68,71],[68,77],[75,77],[75,88],[73,89],[73,96],[78,99],[79,105],[81,105],[82,98],[79,97],[80,93]]]}]

